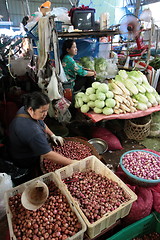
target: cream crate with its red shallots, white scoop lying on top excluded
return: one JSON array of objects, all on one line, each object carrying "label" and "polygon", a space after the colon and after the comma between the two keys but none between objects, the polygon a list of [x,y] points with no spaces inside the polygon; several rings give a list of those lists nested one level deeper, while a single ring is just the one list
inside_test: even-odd
[{"label": "cream crate with its red shallots, white scoop lying on top excluded", "polygon": [[[22,206],[21,194],[27,186],[37,180],[48,186],[49,197],[39,209],[27,210]],[[86,224],[54,173],[47,173],[7,191],[5,203],[12,240],[83,240]]]}]

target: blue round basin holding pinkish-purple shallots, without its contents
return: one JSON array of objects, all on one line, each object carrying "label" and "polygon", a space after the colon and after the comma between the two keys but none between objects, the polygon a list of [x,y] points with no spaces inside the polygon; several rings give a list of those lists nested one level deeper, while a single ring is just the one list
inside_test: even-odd
[{"label": "blue round basin holding pinkish-purple shallots, without its contents", "polygon": [[158,180],[149,180],[149,179],[144,179],[144,178],[137,177],[137,176],[133,175],[132,173],[130,173],[130,172],[124,167],[124,165],[123,165],[123,157],[124,157],[126,154],[130,153],[130,152],[136,152],[136,151],[138,151],[138,152],[146,152],[146,153],[152,154],[152,155],[154,155],[154,156],[156,156],[156,157],[160,157],[158,154],[155,154],[155,153],[150,152],[150,151],[145,151],[145,150],[131,150],[131,151],[125,152],[125,153],[120,157],[120,166],[121,166],[122,170],[126,173],[126,175],[128,176],[128,178],[129,178],[132,182],[134,182],[135,184],[137,184],[137,185],[144,186],[144,187],[145,187],[145,186],[149,187],[149,186],[154,186],[154,185],[160,183],[160,179],[158,179]]}]

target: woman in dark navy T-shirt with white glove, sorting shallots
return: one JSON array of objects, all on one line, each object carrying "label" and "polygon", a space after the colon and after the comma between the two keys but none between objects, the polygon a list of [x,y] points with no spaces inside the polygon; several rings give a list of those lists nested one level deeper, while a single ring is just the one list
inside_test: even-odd
[{"label": "woman in dark navy T-shirt with white glove, sorting shallots", "polygon": [[49,103],[48,96],[41,92],[24,95],[24,106],[9,129],[10,153],[15,166],[33,169],[39,165],[40,156],[62,165],[74,162],[54,152],[48,142],[47,137],[56,144],[63,144],[63,138],[56,136],[44,123]]}]

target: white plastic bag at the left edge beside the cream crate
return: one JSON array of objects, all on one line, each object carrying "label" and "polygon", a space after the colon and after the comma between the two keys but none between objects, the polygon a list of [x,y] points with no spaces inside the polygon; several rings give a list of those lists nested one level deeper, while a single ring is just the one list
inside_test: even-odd
[{"label": "white plastic bag at the left edge beside the cream crate", "polygon": [[13,187],[11,176],[6,173],[0,173],[0,219],[6,214],[4,193]]}]

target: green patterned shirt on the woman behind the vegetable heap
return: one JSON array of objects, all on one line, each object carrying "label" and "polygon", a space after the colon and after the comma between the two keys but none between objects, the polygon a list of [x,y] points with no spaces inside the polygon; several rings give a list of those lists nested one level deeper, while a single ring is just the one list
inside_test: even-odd
[{"label": "green patterned shirt on the woman behind the vegetable heap", "polygon": [[62,59],[62,66],[66,74],[68,83],[71,83],[71,86],[74,87],[76,76],[86,76],[87,71],[83,69],[76,61],[70,56],[65,55]]}]

